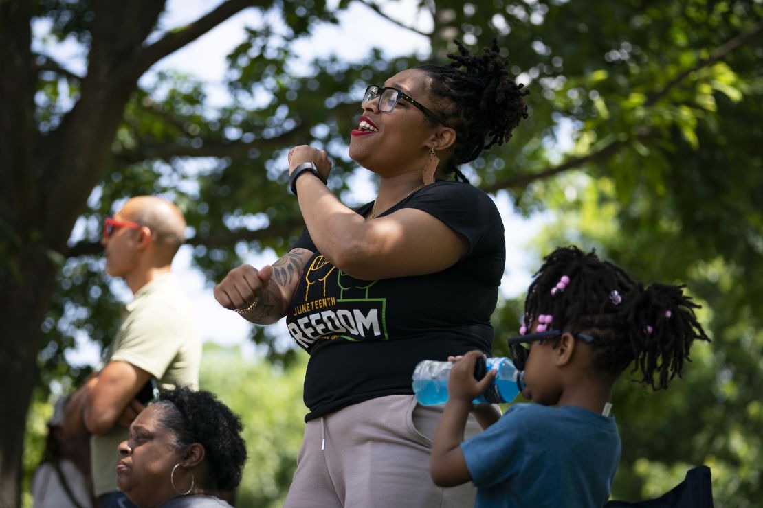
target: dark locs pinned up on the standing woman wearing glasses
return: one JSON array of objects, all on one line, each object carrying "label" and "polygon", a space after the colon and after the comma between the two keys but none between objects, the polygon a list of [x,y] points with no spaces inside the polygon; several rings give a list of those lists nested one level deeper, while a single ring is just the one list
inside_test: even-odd
[{"label": "dark locs pinned up on the standing woman wearing glasses", "polygon": [[456,130],[446,173],[455,173],[456,179],[468,182],[458,165],[511,138],[514,127],[527,118],[524,96],[529,92],[509,77],[497,40],[476,56],[470,55],[461,41],[455,43],[459,55],[448,55],[453,60],[450,65],[424,64],[416,69],[432,78],[427,92],[446,100],[436,112]]}]

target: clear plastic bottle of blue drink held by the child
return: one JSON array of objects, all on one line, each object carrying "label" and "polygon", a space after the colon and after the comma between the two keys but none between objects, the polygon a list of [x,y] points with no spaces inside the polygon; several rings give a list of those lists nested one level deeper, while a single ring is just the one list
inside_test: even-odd
[{"label": "clear plastic bottle of blue drink held by the child", "polygon": [[[421,361],[414,369],[414,394],[423,406],[445,404],[448,401],[448,376],[453,366],[450,362],[432,359]],[[488,369],[497,370],[490,387],[473,401],[475,404],[501,404],[511,402],[520,392],[521,372],[508,358],[495,356],[479,358],[475,365],[475,379],[485,377]]]}]

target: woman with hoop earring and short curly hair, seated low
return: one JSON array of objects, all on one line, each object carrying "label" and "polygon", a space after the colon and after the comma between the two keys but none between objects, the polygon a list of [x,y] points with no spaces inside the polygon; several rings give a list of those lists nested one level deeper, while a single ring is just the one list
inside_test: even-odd
[{"label": "woman with hoop earring and short curly hair, seated low", "polygon": [[241,420],[208,391],[163,391],[119,445],[117,484],[140,508],[224,508],[241,481]]}]

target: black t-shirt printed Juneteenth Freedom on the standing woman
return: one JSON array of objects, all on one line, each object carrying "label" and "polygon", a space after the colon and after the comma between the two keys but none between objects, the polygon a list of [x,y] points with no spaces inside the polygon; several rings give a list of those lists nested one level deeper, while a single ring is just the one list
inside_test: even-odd
[{"label": "black t-shirt printed Juneteenth Freedom on the standing woman", "polygon": [[423,359],[492,349],[490,316],[506,260],[495,204],[471,185],[436,182],[381,216],[401,208],[430,213],[463,235],[468,254],[438,273],[369,281],[330,264],[307,229],[292,246],[314,252],[286,316],[291,337],[310,353],[305,421],[371,398],[412,395],[411,376]]}]

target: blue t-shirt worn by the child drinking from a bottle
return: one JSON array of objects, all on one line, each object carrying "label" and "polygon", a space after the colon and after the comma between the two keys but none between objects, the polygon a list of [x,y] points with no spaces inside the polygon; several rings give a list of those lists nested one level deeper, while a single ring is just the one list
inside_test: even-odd
[{"label": "blue t-shirt worn by the child drinking from a bottle", "polygon": [[461,444],[476,508],[604,506],[620,462],[614,418],[582,407],[514,404]]}]

